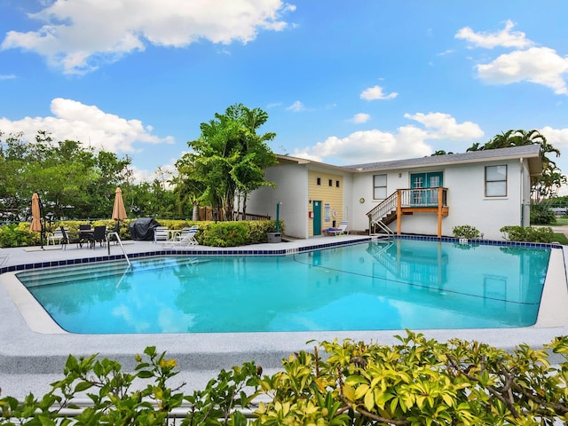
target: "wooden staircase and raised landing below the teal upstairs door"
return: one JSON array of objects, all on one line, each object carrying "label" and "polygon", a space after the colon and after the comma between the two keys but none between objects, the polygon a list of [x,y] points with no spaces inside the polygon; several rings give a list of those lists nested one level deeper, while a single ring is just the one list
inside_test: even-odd
[{"label": "wooden staircase and raised landing below the teal upstairs door", "polygon": [[393,231],[388,225],[396,220],[397,233],[399,235],[403,215],[437,213],[438,237],[441,237],[442,217],[446,217],[449,214],[446,199],[447,188],[441,186],[436,188],[398,189],[375,206],[374,209],[367,212],[369,233],[392,234]]}]

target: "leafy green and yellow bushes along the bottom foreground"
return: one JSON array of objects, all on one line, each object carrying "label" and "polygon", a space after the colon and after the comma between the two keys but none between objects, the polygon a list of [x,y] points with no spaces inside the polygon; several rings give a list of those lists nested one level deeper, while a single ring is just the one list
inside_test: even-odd
[{"label": "leafy green and yellow bushes along the bottom foreground", "polygon": [[[181,425],[552,425],[568,421],[568,337],[543,349],[507,352],[407,332],[398,344],[323,342],[262,375],[254,362],[221,371],[191,395],[171,389],[176,362],[146,348],[135,373],[95,356],[70,356],[65,377],[43,398],[0,399],[0,424],[166,424],[188,403]],[[319,351],[323,350],[323,356]],[[549,364],[556,353],[558,367]],[[138,386],[134,387],[133,383]],[[149,382],[149,383],[145,383]],[[141,385],[141,384],[142,385]],[[71,420],[64,409],[88,395]],[[256,406],[255,399],[261,402]]]}]

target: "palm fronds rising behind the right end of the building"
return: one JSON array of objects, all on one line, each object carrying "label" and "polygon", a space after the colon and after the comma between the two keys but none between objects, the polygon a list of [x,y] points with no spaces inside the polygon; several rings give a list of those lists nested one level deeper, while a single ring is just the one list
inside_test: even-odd
[{"label": "palm fronds rising behind the right end of the building", "polygon": [[542,175],[533,177],[531,181],[531,198],[540,202],[543,198],[556,195],[558,189],[567,183],[562,171],[556,167],[556,162],[550,160],[550,154],[560,156],[560,150],[548,144],[547,138],[539,130],[508,130],[496,135],[484,146],[473,144],[468,151],[485,151],[487,149],[509,148],[511,146],[525,146],[539,144],[542,153]]}]

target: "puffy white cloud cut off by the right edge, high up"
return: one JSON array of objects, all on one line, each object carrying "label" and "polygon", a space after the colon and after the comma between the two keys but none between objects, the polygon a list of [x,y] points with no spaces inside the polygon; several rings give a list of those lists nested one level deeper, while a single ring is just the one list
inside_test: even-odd
[{"label": "puffy white cloud cut off by the right edge, high up", "polygon": [[503,54],[489,64],[477,65],[477,73],[487,83],[527,81],[549,87],[558,95],[568,94],[563,77],[568,73],[568,58],[547,47]]}]

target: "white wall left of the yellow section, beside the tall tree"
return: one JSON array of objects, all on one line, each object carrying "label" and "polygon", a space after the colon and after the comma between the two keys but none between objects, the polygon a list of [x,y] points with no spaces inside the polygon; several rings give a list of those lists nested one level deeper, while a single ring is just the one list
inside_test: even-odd
[{"label": "white wall left of the yellow section, beside the tall tree", "polygon": [[264,178],[276,188],[264,186],[248,195],[247,211],[276,219],[276,203],[280,204],[280,220],[291,237],[308,238],[308,172],[303,165],[280,165],[264,170]]}]

